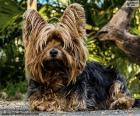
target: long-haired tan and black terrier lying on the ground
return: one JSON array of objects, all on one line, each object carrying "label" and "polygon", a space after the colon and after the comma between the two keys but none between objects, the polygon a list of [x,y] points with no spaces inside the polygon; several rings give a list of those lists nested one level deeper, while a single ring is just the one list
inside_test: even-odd
[{"label": "long-haired tan and black terrier lying on the ground", "polygon": [[27,10],[23,19],[31,110],[129,109],[139,103],[115,69],[87,61],[86,19],[81,5],[69,5],[56,24],[47,23],[33,9]]}]

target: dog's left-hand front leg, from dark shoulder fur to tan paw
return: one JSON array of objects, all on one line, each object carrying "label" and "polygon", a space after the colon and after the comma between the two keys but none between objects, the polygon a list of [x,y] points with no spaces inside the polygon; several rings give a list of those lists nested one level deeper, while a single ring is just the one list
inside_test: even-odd
[{"label": "dog's left-hand front leg, from dark shoulder fur to tan paw", "polygon": [[36,111],[63,111],[65,99],[55,94],[36,81],[30,80],[28,85],[28,99],[30,109]]}]

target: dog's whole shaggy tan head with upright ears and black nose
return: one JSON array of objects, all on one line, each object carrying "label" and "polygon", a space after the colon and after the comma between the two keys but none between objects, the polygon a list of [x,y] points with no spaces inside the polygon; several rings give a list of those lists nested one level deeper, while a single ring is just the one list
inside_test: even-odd
[{"label": "dog's whole shaggy tan head with upright ears and black nose", "polygon": [[75,82],[86,63],[85,14],[70,5],[57,24],[48,24],[35,10],[24,14],[27,78],[42,83]]}]

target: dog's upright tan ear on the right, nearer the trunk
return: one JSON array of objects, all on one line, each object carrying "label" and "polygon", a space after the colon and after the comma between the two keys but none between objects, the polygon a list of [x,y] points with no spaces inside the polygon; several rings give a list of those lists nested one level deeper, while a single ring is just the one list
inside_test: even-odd
[{"label": "dog's upright tan ear on the right, nearer the trunk", "polygon": [[74,38],[85,38],[85,11],[80,4],[74,3],[66,8],[61,17],[62,26],[67,28]]}]

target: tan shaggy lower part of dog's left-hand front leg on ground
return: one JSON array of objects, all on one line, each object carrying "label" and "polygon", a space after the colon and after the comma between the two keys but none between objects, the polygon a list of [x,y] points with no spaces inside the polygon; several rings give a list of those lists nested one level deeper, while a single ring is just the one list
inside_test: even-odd
[{"label": "tan shaggy lower part of dog's left-hand front leg on ground", "polygon": [[64,110],[64,103],[61,104],[61,99],[57,99],[54,95],[34,93],[29,98],[29,104],[31,110],[36,111],[62,111]]}]

